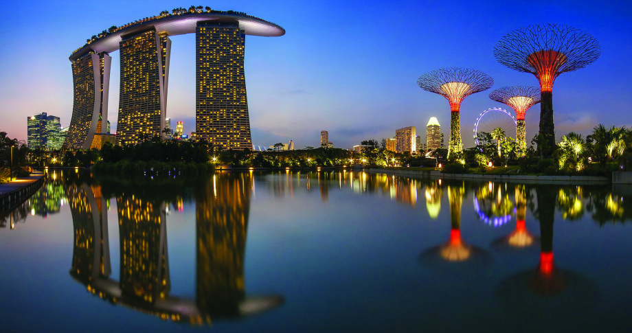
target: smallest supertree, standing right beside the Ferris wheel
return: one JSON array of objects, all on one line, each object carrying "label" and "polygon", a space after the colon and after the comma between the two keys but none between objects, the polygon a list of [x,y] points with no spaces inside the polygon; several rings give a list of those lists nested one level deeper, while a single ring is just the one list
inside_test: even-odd
[{"label": "smallest supertree, standing right beside the Ferris wheel", "polygon": [[511,106],[516,112],[516,146],[517,156],[523,157],[527,150],[527,133],[524,116],[527,110],[540,102],[541,93],[537,87],[514,86],[502,87],[489,94],[496,102]]}]

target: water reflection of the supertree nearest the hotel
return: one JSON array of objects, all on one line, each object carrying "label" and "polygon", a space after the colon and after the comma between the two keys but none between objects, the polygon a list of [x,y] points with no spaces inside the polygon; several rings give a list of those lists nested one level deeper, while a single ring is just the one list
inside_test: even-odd
[{"label": "water reflection of the supertree nearest the hotel", "polygon": [[[466,244],[461,237],[461,206],[465,194],[464,183],[448,185],[450,204],[450,238],[447,243],[427,249],[420,255],[420,262],[425,266],[452,268],[459,263],[460,267],[477,268],[491,262],[490,255],[483,249]],[[467,263],[467,264],[466,264]]]}]

